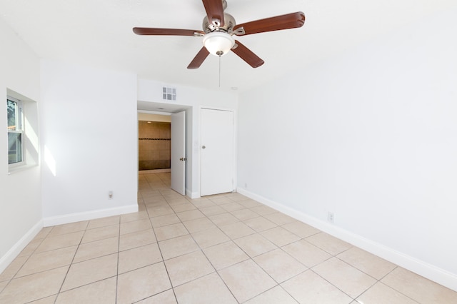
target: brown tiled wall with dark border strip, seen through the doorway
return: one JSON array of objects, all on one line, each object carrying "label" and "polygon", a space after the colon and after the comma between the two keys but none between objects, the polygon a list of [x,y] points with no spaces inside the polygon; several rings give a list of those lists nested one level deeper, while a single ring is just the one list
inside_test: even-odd
[{"label": "brown tiled wall with dark border strip, seen through the doorway", "polygon": [[171,123],[139,121],[139,170],[170,168]]}]

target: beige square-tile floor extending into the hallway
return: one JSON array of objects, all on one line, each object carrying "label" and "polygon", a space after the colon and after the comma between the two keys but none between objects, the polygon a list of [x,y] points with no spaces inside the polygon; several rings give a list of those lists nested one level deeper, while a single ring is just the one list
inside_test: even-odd
[{"label": "beige square-tile floor extending into the hallway", "polygon": [[457,303],[457,293],[238,193],[139,176],[138,213],[47,227],[0,303]]}]

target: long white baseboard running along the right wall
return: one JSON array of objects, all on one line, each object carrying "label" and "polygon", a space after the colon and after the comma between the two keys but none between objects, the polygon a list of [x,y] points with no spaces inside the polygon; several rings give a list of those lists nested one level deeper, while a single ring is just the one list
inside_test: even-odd
[{"label": "long white baseboard running along the right wall", "polygon": [[354,233],[349,232],[348,230],[339,228],[338,226],[334,226],[325,221],[321,221],[312,216],[308,216],[305,213],[296,211],[295,209],[290,208],[288,206],[284,206],[281,203],[271,201],[268,198],[264,198],[263,196],[258,196],[256,193],[251,193],[246,189],[238,188],[236,191],[242,194],[243,196],[252,198],[255,201],[263,203],[266,206],[269,206],[273,209],[276,209],[277,211],[280,211],[288,216],[291,216],[292,218],[296,218],[298,221],[302,221],[303,223],[311,225],[314,228],[318,228],[319,230],[322,230],[325,233],[328,233],[330,235],[335,236],[336,238],[351,243],[352,245],[355,245],[358,248],[366,250],[369,253],[378,255],[380,258],[388,260],[389,262],[401,266],[407,270],[410,270],[413,273],[422,275],[424,278],[428,278],[429,280],[433,280],[438,284],[441,284],[443,286],[446,286],[447,288],[457,291],[457,275],[454,273],[449,273],[446,270],[425,263],[423,262],[423,260],[418,260],[417,258],[414,258],[410,255],[406,255],[404,253],[401,253],[400,251],[394,250],[393,248],[388,248],[385,245],[374,242],[373,240],[363,238],[361,235],[356,235]]}]

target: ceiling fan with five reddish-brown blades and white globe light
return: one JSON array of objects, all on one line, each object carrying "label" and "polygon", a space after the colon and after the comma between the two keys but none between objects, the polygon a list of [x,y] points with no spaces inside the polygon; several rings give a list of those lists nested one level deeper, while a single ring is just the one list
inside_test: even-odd
[{"label": "ceiling fan with five reddish-brown blades and white globe light", "polygon": [[209,54],[223,56],[233,51],[241,59],[253,68],[261,66],[264,61],[246,48],[233,36],[245,36],[266,31],[279,31],[282,29],[295,29],[303,26],[305,14],[301,11],[296,13],[275,16],[266,19],[236,24],[230,14],[224,13],[226,0],[202,0],[205,6],[206,17],[203,21],[203,31],[192,29],[160,29],[134,27],[134,33],[138,35],[172,35],[172,36],[200,36],[203,37],[203,48],[191,61],[187,69],[198,69]]}]

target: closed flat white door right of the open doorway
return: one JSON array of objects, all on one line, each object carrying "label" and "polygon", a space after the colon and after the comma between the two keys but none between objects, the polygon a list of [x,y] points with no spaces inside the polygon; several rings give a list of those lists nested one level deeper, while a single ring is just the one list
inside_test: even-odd
[{"label": "closed flat white door right of the open doorway", "polygon": [[201,196],[233,191],[233,111],[201,109]]}]

